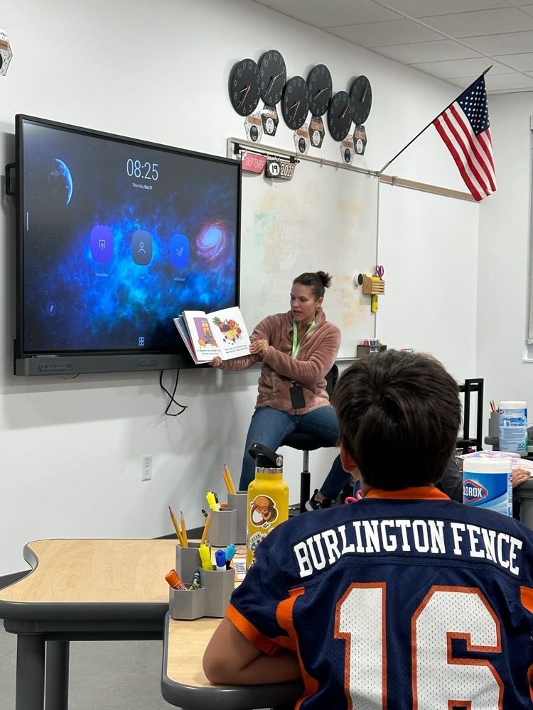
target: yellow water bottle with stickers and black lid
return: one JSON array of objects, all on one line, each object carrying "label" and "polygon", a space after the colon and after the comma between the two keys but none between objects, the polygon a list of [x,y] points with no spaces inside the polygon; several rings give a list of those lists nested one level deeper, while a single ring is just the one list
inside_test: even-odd
[{"label": "yellow water bottle with stickers and black lid", "polygon": [[289,486],[283,480],[283,457],[263,444],[252,444],[248,453],[255,459],[255,478],[248,486],[247,569],[255,562],[260,542],[289,518]]}]

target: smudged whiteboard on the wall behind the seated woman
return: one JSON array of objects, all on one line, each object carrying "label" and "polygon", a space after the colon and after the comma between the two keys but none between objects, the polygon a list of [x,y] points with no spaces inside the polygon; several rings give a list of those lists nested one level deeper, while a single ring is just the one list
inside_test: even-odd
[{"label": "smudged whiteboard on the wall behind the seated woman", "polygon": [[240,308],[248,329],[289,310],[294,278],[333,276],[323,310],[342,332],[339,357],[373,337],[370,295],[353,283],[376,263],[378,180],[301,160],[290,181],[242,173]]}]

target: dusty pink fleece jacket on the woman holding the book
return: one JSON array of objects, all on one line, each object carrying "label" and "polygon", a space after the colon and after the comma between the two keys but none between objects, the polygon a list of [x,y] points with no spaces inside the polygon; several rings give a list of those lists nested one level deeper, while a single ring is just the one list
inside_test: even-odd
[{"label": "dusty pink fleece jacket on the woman holding the book", "polygon": [[[325,320],[320,308],[315,327],[302,340],[296,359],[291,357],[293,326],[291,312],[276,313],[262,320],[250,336],[251,340],[265,339],[269,349],[262,359],[256,409],[273,407],[291,414],[306,414],[318,407],[330,406],[325,391],[325,374],[330,371],[340,346],[340,330]],[[245,370],[259,359],[259,355],[244,355],[222,363],[223,369]],[[306,406],[295,410],[291,403],[291,380],[302,386]]]}]

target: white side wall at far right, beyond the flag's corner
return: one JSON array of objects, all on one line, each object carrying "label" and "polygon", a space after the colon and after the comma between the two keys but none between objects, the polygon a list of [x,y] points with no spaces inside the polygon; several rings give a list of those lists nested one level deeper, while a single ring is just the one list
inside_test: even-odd
[{"label": "white side wall at far right, beyond the flag's corner", "polygon": [[[533,362],[524,362],[529,275],[533,94],[491,97],[497,192],[480,209],[478,371],[487,401],[533,408]],[[531,422],[530,422],[531,423]]]}]

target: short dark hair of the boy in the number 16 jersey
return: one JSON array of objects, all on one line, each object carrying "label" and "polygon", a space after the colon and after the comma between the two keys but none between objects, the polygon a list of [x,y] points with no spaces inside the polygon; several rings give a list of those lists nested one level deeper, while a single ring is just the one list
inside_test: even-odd
[{"label": "short dark hair of the boy in the number 16 jersey", "polygon": [[362,358],[333,391],[339,439],[365,483],[386,491],[436,484],[461,425],[458,385],[424,354],[387,350]]}]

